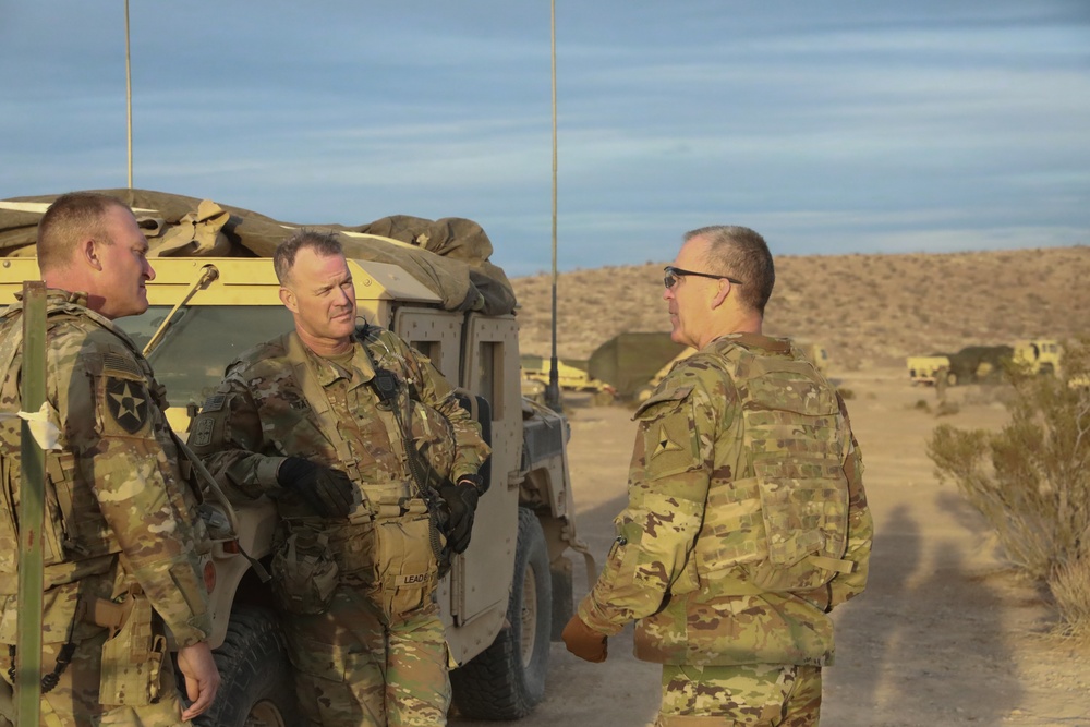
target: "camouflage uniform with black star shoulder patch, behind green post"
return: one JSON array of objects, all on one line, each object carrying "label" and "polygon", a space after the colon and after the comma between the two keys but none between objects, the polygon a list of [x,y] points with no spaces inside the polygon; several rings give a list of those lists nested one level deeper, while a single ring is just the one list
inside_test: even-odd
[{"label": "camouflage uniform with black star shoulder patch, behind green post", "polygon": [[[180,646],[206,640],[211,622],[201,564],[207,533],[179,471],[162,390],[125,334],[86,304],[81,293],[48,292],[46,401],[60,449],[46,455],[43,671],[53,670],[66,642],[76,646],[58,686],[43,696],[43,724],[178,725],[169,658],[158,703],[116,706],[116,695],[99,693],[108,634],[90,622],[94,598],[117,599],[138,584]],[[13,305],[0,319],[8,413],[21,408],[21,310]],[[16,641],[17,422],[0,424],[0,644],[8,645]],[[9,647],[0,652],[0,671],[10,679]]]}]

